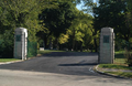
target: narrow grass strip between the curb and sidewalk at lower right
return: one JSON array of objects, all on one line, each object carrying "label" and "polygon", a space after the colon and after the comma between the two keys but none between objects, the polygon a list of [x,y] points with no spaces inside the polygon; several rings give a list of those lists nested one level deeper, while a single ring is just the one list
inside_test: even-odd
[{"label": "narrow grass strip between the curb and sidewalk at lower right", "polygon": [[130,73],[130,72],[128,72],[128,73],[124,73],[124,72],[105,72],[105,73],[132,78],[132,73]]}]

